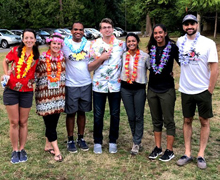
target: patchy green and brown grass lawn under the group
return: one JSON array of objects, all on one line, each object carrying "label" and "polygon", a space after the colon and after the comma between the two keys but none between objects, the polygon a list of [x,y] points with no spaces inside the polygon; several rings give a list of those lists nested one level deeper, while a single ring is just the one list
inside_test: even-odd
[{"label": "patchy green and brown grass lawn under the group", "polygon": [[[220,59],[220,39],[215,40],[218,47]],[[141,49],[145,50],[148,38],[141,38]],[[41,48],[41,52],[46,48]],[[0,63],[6,53],[0,53]],[[0,66],[0,74],[3,74],[2,66]],[[175,63],[174,77],[176,89],[178,89],[180,68]],[[82,152],[79,150],[77,154],[70,154],[66,150],[65,141],[67,140],[65,114],[62,114],[58,124],[58,144],[64,161],[55,162],[53,156],[44,152],[45,144],[45,127],[42,117],[35,113],[35,102],[30,112],[28,121],[28,140],[26,143],[26,151],[28,153],[28,161],[13,165],[10,163],[12,147],[9,139],[9,121],[5,107],[3,105],[2,92],[0,88],[0,180],[11,179],[108,179],[108,180],[139,180],[139,179],[169,179],[169,180],[206,180],[220,179],[220,77],[213,95],[213,111],[214,117],[211,119],[211,134],[209,143],[206,148],[206,161],[208,167],[206,170],[200,170],[196,166],[196,161],[178,167],[176,161],[184,153],[184,139],[182,132],[182,109],[180,102],[180,93],[176,90],[176,106],[175,106],[175,122],[176,122],[176,138],[174,143],[175,158],[170,162],[160,162],[158,159],[151,161],[148,159],[149,153],[154,148],[154,136],[152,132],[151,116],[149,106],[146,102],[144,116],[144,150],[137,156],[130,155],[132,145],[132,137],[128,125],[127,115],[121,103],[121,121],[120,135],[118,139],[118,153],[108,153],[108,132],[109,132],[109,107],[106,106],[104,116],[104,142],[103,154],[95,155],[93,153],[93,113],[87,113],[87,124],[85,130],[85,139],[88,142],[90,150]],[[197,156],[199,149],[200,122],[198,115],[194,117],[193,136],[192,136],[192,155]],[[75,129],[76,131],[76,129]],[[166,132],[163,131],[162,148],[166,148]]]}]

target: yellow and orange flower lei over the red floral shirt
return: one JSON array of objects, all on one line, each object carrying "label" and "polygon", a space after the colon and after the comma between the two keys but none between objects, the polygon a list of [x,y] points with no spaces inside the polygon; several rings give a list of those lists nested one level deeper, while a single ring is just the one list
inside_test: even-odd
[{"label": "yellow and orange flower lei over the red floral shirt", "polygon": [[33,51],[31,51],[31,54],[30,54],[30,56],[29,56],[28,59],[27,59],[27,66],[26,66],[26,68],[24,69],[23,74],[21,75],[21,67],[22,67],[22,65],[24,64],[24,56],[25,56],[25,53],[26,53],[26,46],[24,46],[24,47],[22,48],[21,57],[20,57],[19,60],[18,60],[18,65],[17,65],[17,79],[21,79],[21,78],[26,77],[28,71],[31,69],[31,64],[32,64],[33,58],[34,58]]}]

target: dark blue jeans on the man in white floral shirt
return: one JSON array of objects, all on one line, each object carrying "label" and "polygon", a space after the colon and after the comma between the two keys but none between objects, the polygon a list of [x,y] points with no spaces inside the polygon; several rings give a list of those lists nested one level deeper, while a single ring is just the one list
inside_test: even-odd
[{"label": "dark blue jeans on the man in white floral shirt", "polygon": [[120,92],[98,93],[93,91],[93,108],[94,108],[94,129],[93,138],[95,144],[102,144],[103,135],[103,117],[105,113],[106,98],[108,97],[110,108],[110,132],[109,143],[116,143],[119,134],[120,121]]}]

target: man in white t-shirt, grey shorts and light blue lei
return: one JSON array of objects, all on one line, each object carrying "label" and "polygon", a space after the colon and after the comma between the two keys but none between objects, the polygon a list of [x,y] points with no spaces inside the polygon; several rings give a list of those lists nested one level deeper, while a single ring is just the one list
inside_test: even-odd
[{"label": "man in white t-shirt, grey shorts and light blue lei", "polygon": [[78,126],[77,145],[83,151],[89,150],[83,135],[86,123],[85,112],[92,110],[92,81],[88,71],[90,42],[83,36],[83,24],[80,22],[74,23],[71,33],[72,36],[65,38],[62,50],[66,59],[67,150],[70,153],[76,153],[77,148],[73,138],[76,114]]}]

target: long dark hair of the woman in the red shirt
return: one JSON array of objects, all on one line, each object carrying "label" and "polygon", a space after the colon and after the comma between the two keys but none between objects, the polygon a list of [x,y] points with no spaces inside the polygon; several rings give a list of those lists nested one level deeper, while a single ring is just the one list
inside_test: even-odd
[{"label": "long dark hair of the woman in the red shirt", "polygon": [[[36,39],[36,32],[33,29],[25,29],[22,33],[22,39],[24,38],[24,33],[25,32],[32,32],[34,34],[34,37]],[[22,48],[24,47],[24,43],[23,41],[21,41],[21,44],[18,46],[18,57],[21,57],[21,52],[22,52]],[[38,43],[35,43],[35,45],[33,46],[33,54],[34,54],[34,60],[39,59],[40,56],[40,52],[38,50]]]}]

